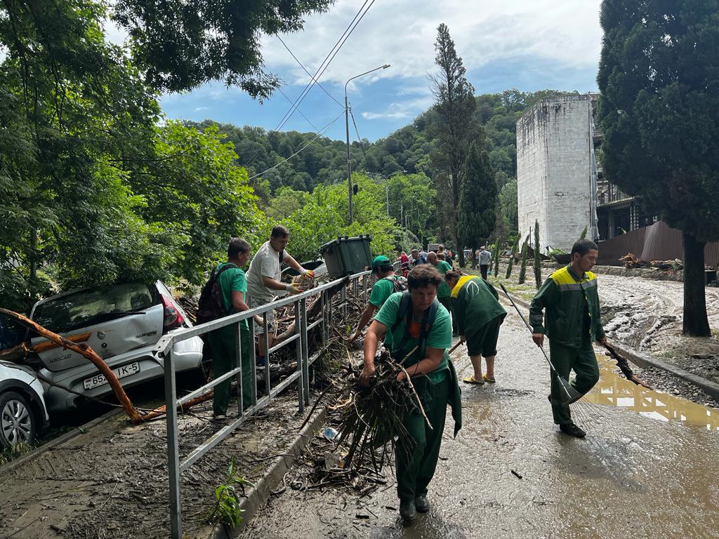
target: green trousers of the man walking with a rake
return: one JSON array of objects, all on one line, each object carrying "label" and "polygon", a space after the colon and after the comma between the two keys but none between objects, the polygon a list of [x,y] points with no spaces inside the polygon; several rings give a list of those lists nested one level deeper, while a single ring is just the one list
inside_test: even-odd
[{"label": "green trousers of the man walking with a rake", "polygon": [[595,356],[591,341],[587,340],[580,348],[575,348],[550,340],[549,357],[559,376],[565,380],[569,379],[569,371],[574,371],[574,379],[570,384],[580,393],[580,397],[572,400],[562,389],[562,384],[559,383],[557,376],[554,373],[551,374],[551,413],[554,415],[554,423],[557,425],[572,423],[569,405],[575,400],[579,400],[599,381],[597,356]]}]

